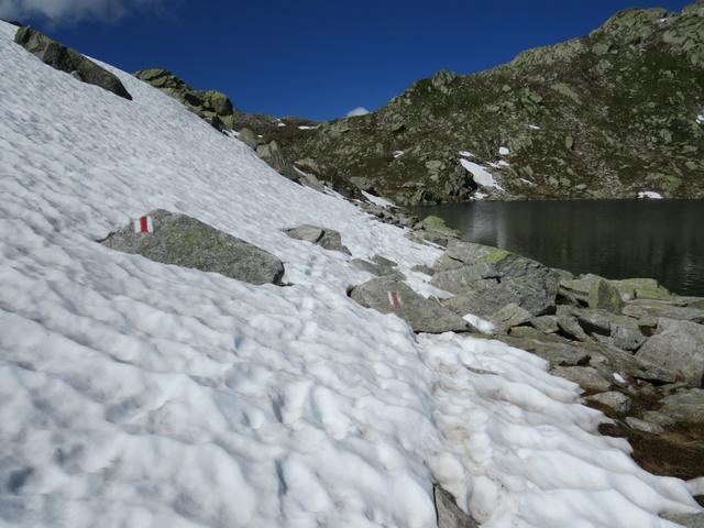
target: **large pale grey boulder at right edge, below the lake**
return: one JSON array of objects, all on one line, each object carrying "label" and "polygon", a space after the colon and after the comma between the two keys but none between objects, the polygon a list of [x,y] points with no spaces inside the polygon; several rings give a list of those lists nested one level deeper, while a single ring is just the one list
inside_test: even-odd
[{"label": "large pale grey boulder at right edge, below the lake", "polygon": [[636,354],[680,374],[691,387],[704,382],[704,326],[661,318],[658,333]]}]

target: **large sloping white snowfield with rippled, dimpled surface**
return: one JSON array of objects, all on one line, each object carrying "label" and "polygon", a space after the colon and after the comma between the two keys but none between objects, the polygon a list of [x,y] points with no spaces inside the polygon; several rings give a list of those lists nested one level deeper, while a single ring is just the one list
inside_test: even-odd
[{"label": "large sloping white snowfield with rippled, dimpled surface", "polygon": [[[640,470],[546,363],[415,336],[349,299],[354,256],[411,243],[128,74],[56,72],[0,23],[0,526],[432,527],[432,482],[485,527],[671,527],[688,486]],[[112,68],[111,68],[112,69]],[[278,255],[252,286],[96,243],[147,210]]]}]

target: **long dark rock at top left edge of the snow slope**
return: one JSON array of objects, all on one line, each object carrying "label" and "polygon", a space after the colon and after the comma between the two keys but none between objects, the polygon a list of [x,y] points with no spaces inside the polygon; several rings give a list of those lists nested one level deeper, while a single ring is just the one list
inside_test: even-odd
[{"label": "long dark rock at top left edge of the snow slope", "polygon": [[99,86],[117,96],[132,100],[132,96],[116,75],[33,28],[20,28],[14,35],[14,42],[53,68],[66,72],[78,80]]}]

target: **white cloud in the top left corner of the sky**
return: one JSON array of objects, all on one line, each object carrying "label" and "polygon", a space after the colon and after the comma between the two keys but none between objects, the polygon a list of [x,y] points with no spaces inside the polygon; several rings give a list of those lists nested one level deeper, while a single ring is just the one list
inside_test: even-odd
[{"label": "white cloud in the top left corner of the sky", "polygon": [[161,0],[0,0],[3,19],[45,18],[54,23],[86,19],[113,21],[134,9],[155,7]]}]

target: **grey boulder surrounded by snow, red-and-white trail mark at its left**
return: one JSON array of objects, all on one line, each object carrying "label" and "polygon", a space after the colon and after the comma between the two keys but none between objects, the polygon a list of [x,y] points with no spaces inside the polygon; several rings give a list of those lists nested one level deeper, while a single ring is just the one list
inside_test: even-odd
[{"label": "grey boulder surrounded by snow, red-and-white trail mark at its left", "polygon": [[111,233],[102,244],[250,284],[282,284],[284,264],[271,253],[186,215],[158,209],[148,216],[153,232],[135,232],[130,224]]}]

